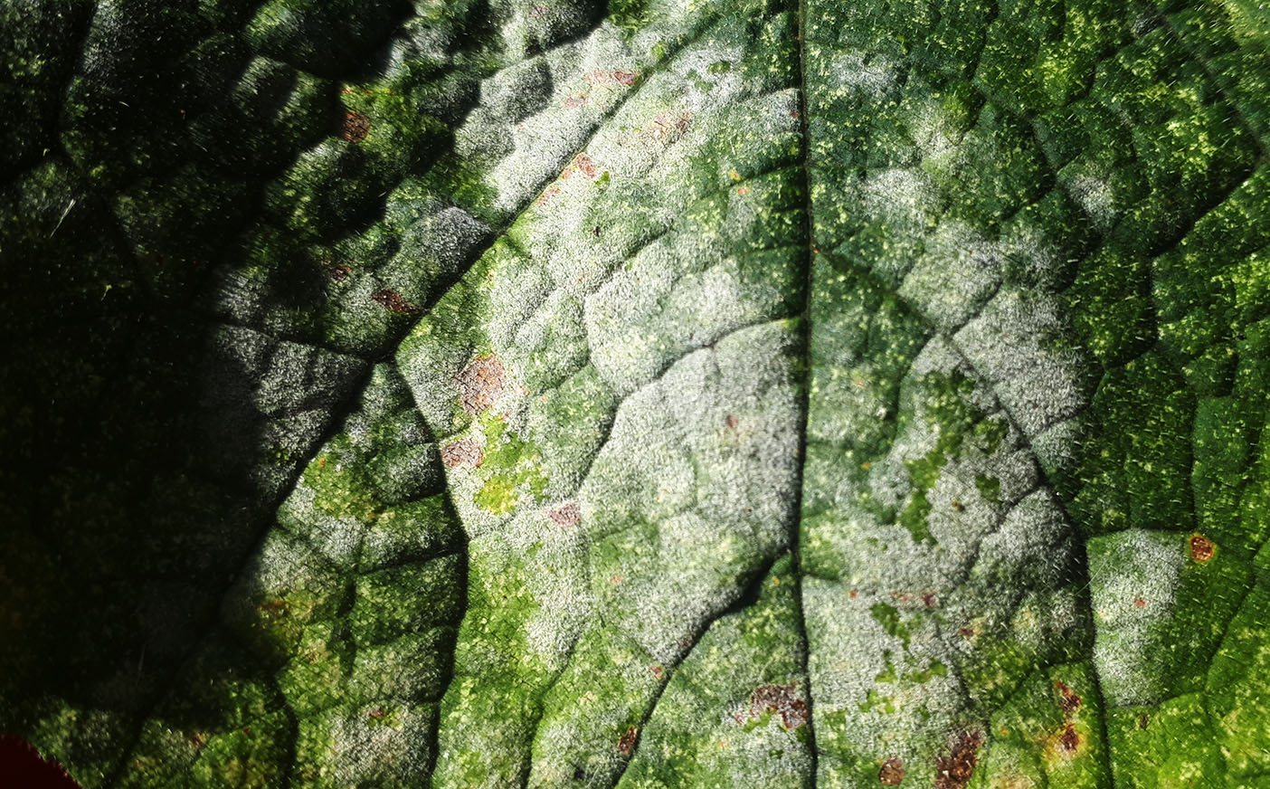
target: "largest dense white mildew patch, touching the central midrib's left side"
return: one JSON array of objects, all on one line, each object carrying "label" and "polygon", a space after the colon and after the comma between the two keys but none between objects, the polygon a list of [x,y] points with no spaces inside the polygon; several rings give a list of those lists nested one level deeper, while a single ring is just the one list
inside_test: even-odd
[{"label": "largest dense white mildew patch, touching the central midrib's left side", "polygon": [[596,582],[626,577],[608,616],[655,659],[677,659],[681,642],[739,592],[738,578],[787,541],[795,342],[787,324],[763,324],[677,362],[622,404],[579,490],[592,541],[654,531],[655,549],[592,572]]}]

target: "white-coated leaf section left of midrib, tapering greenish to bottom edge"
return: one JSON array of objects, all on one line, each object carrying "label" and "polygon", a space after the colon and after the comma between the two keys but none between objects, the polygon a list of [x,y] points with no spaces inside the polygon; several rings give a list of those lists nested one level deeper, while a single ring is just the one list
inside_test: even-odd
[{"label": "white-coated leaf section left of midrib, tapering greenish to bottom edge", "polygon": [[[559,785],[569,778],[564,766],[611,755],[617,723],[652,703],[648,667],[673,670],[787,548],[798,342],[786,321],[742,329],[622,401],[578,493],[596,601],[547,698],[531,785]],[[630,651],[629,661],[613,643]],[[603,682],[596,661],[611,672]]]}]

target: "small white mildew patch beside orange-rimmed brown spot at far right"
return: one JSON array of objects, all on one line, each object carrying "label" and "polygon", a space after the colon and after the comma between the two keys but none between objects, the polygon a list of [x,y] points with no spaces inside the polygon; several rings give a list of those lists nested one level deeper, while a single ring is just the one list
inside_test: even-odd
[{"label": "small white mildew patch beside orange-rimmed brown spot at far right", "polygon": [[[1160,701],[1165,692],[1163,628],[1186,565],[1185,539],[1130,529],[1086,544],[1093,623],[1093,664],[1107,704]],[[1139,602],[1140,601],[1140,602]]]}]

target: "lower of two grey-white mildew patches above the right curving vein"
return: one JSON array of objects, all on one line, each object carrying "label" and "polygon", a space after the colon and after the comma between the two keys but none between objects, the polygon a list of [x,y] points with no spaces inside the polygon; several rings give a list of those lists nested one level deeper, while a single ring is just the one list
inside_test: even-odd
[{"label": "lower of two grey-white mildew patches above the right curving vein", "polygon": [[1035,436],[1087,403],[1081,381],[1086,360],[1063,344],[1066,332],[1057,299],[1002,290],[955,342],[1020,429]]}]

